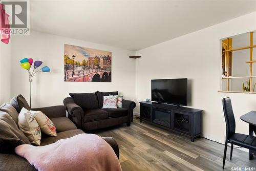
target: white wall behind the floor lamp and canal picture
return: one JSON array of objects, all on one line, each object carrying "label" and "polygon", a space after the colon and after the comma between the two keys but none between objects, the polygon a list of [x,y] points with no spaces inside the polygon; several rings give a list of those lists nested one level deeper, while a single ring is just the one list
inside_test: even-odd
[{"label": "white wall behind the floor lamp and canal picture", "polygon": [[[50,73],[38,73],[32,82],[32,107],[61,105],[69,93],[119,91],[125,99],[135,100],[135,52],[93,44],[82,40],[31,31],[30,36],[13,36],[11,95],[23,94],[29,100],[29,78],[19,66],[25,57],[43,61]],[[112,52],[112,82],[65,82],[64,44]]]}]

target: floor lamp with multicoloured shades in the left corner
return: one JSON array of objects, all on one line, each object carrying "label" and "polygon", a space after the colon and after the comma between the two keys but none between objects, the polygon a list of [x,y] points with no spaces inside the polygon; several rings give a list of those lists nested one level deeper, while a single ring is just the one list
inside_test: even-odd
[{"label": "floor lamp with multicoloured shades in the left corner", "polygon": [[21,63],[20,67],[24,68],[25,70],[28,70],[28,73],[29,73],[29,106],[31,108],[31,82],[33,81],[32,78],[38,72],[50,72],[50,68],[45,66],[45,67],[42,67],[40,70],[37,70],[37,68],[42,65],[42,61],[36,60],[34,62],[34,69],[31,72],[30,68],[33,64],[32,58],[24,58],[24,59],[20,60],[20,63]]}]

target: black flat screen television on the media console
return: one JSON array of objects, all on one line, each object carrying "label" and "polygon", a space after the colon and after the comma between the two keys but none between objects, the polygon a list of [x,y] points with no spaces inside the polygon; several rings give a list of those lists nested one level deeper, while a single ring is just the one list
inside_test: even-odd
[{"label": "black flat screen television on the media console", "polygon": [[187,78],[152,79],[151,99],[160,103],[187,106]]}]

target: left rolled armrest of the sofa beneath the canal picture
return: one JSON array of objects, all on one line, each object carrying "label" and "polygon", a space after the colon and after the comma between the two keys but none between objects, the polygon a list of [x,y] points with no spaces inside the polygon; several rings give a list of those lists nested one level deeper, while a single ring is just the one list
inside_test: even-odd
[{"label": "left rolled armrest of the sofa beneath the canal picture", "polygon": [[67,97],[63,100],[66,110],[69,113],[69,119],[71,119],[78,129],[82,129],[82,122],[84,120],[84,114],[82,108],[77,105],[72,97]]}]

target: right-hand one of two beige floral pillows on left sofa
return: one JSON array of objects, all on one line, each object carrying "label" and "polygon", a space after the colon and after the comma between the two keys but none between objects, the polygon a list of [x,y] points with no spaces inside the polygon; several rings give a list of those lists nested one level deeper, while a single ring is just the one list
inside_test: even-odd
[{"label": "right-hand one of two beige floral pillows on left sofa", "polygon": [[35,120],[40,126],[40,129],[43,133],[50,136],[57,136],[56,127],[44,113],[41,111],[30,111],[34,116]]}]

